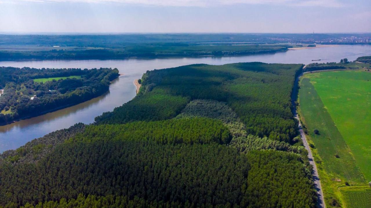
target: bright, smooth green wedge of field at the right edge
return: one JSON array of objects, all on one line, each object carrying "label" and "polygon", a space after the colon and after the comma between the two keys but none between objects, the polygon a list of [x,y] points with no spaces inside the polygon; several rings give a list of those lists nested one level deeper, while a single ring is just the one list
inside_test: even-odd
[{"label": "bright, smooth green wedge of field at the right edge", "polygon": [[309,74],[316,92],[350,147],[367,181],[371,180],[371,73],[329,71]]}]

